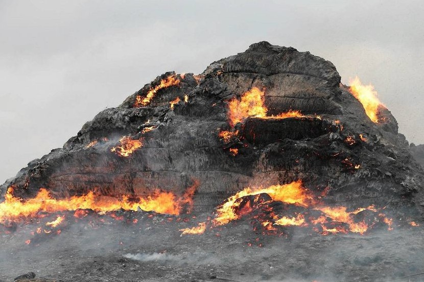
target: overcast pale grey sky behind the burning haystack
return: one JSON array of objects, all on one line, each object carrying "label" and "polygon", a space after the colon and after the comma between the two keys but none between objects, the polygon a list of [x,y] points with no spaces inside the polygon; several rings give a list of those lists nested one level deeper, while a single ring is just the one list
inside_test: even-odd
[{"label": "overcast pale grey sky behind the burning haystack", "polygon": [[200,73],[262,40],[372,83],[424,143],[423,12],[422,0],[0,0],[0,182],[157,75]]}]

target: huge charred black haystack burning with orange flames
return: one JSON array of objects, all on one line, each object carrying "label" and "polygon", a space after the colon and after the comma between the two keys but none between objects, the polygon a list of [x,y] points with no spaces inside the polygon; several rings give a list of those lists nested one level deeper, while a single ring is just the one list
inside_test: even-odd
[{"label": "huge charred black haystack burning with orange flames", "polygon": [[145,211],[210,215],[181,236],[246,217],[277,236],[418,225],[408,142],[371,86],[340,81],[331,62],[265,41],[198,75],[164,73],[1,186],[0,223],[54,215],[35,234],[59,234],[65,214]]}]

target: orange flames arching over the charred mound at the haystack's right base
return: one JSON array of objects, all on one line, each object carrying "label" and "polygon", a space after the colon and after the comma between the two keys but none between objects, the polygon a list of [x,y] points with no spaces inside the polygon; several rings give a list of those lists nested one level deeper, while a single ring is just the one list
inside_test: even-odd
[{"label": "orange flames arching over the charred mound at the haystack's right base", "polygon": [[[307,189],[302,187],[301,181],[296,181],[290,184],[274,185],[268,188],[246,188],[237,194],[230,196],[217,208],[216,216],[211,220],[212,226],[224,225],[250,214],[253,208],[250,201],[246,203],[241,200],[241,198],[248,195],[256,195],[258,197],[259,194],[262,193],[268,194],[272,201],[295,204],[303,208],[311,207],[314,210],[321,211],[323,215],[316,219],[309,218],[308,220],[313,225],[321,226],[321,232],[317,227],[314,227],[313,229],[320,232],[322,235],[348,232],[364,234],[367,232],[369,226],[364,221],[355,221],[354,215],[365,210],[378,212],[374,206],[359,208],[351,212],[348,212],[346,207],[317,206],[319,202],[312,197],[312,194],[310,194]],[[242,202],[245,203],[245,206],[243,207],[241,206]],[[265,201],[263,203],[266,204],[267,202]],[[240,208],[242,209],[240,210]],[[275,230],[273,225],[305,227],[309,224],[303,214],[298,214],[296,217],[283,216],[279,218],[272,212],[272,208],[269,211],[271,211],[269,219],[261,221],[261,225],[265,230]],[[388,225],[388,229],[392,230],[392,219],[386,218],[382,213],[379,214],[379,217]],[[203,223],[199,224],[199,226],[203,226]],[[184,234],[201,234],[202,232],[197,232],[199,229],[199,227],[193,227],[181,229],[180,231],[185,232]],[[190,233],[191,230],[193,230],[192,233]]]}]

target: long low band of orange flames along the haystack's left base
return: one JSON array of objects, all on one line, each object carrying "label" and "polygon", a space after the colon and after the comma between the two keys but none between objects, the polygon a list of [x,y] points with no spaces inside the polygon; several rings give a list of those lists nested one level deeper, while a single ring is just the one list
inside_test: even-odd
[{"label": "long low band of orange flames along the haystack's left base", "polygon": [[[83,212],[78,210],[93,210],[99,213],[106,213],[117,211],[120,209],[126,211],[154,211],[162,214],[178,215],[186,208],[190,210],[193,206],[192,197],[196,191],[198,183],[188,188],[187,191],[178,197],[172,192],[163,192],[155,190],[147,197],[131,197],[122,196],[121,199],[112,198],[108,196],[95,195],[92,191],[82,196],[73,196],[66,199],[52,198],[49,192],[41,188],[34,198],[21,200],[13,196],[13,188],[9,188],[5,201],[0,203],[0,223],[7,220],[19,220],[27,217],[37,217],[39,212],[62,212],[62,211],[76,211],[74,216],[85,216]],[[48,225],[59,224],[63,220],[58,217],[55,221]],[[59,223],[58,223],[59,222]]]}]

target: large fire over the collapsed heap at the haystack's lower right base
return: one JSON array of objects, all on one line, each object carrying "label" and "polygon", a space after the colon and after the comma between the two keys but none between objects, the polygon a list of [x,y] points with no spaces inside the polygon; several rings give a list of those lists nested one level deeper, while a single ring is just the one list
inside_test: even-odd
[{"label": "large fire over the collapsed heap at the haystack's lower right base", "polygon": [[[249,198],[246,202],[246,197],[249,196],[253,197]],[[300,209],[304,209],[304,212],[296,212],[295,216],[279,216],[278,212],[273,211],[270,205],[273,201],[282,202],[287,207],[297,206]],[[387,224],[389,230],[392,229],[393,223],[392,219],[387,218],[374,206],[359,208],[353,211],[348,211],[346,207],[325,206],[325,204],[314,198],[313,193],[303,187],[301,181],[296,181],[285,185],[273,185],[267,188],[245,188],[227,198],[217,208],[214,219],[208,222],[201,222],[197,227],[180,229],[182,231],[181,235],[202,234],[205,232],[206,226],[214,227],[228,224],[231,221],[251,214],[255,209],[261,209],[261,207],[265,209],[267,217],[261,219],[255,216],[255,218],[260,220],[265,230],[272,231],[275,231],[274,226],[276,225],[310,226],[322,235],[348,232],[364,234],[376,222]],[[314,214],[313,211],[316,211],[317,214],[311,216],[311,214]],[[361,219],[361,216],[356,218],[361,212],[365,211],[373,214],[372,219],[368,219],[368,223],[366,223],[365,219]]]}]

